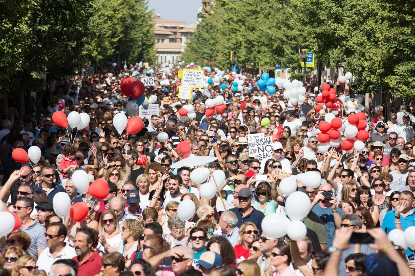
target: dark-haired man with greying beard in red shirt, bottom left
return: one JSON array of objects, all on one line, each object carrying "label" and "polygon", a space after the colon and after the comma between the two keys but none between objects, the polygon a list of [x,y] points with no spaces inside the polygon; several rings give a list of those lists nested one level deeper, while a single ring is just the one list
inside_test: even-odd
[{"label": "dark-haired man with greying beard in red shirt, bottom left", "polygon": [[93,250],[94,240],[94,233],[87,226],[76,231],[73,246],[77,256],[72,259],[78,264],[78,276],[94,276],[101,271],[102,257]]}]

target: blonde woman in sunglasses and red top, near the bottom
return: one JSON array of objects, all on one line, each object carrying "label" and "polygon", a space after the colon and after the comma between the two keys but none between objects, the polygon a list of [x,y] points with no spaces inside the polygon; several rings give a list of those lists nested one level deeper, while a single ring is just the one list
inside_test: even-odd
[{"label": "blonde woman in sunglasses and red top, near the bottom", "polygon": [[249,249],[258,235],[259,230],[254,223],[250,221],[242,223],[239,228],[239,243],[234,246],[235,257],[237,259],[241,259],[241,257],[244,259],[249,258]]}]

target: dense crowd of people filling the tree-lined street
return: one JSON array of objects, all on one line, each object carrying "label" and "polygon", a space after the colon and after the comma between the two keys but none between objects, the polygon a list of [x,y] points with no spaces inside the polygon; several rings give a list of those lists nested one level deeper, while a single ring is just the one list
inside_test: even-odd
[{"label": "dense crowd of people filling the tree-lined street", "polygon": [[[11,109],[3,115],[0,199],[22,225],[0,239],[1,275],[414,273],[413,250],[388,239],[394,229],[415,226],[415,116],[410,104],[390,114],[382,106],[364,111],[370,138],[363,150],[331,147],[320,152],[318,125],[325,114],[345,120],[359,112],[359,95],[352,90],[337,89],[337,98],[344,101],[317,111],[315,98],[322,86],[313,80],[304,83],[305,102],[292,105],[281,87],[275,86],[272,95],[261,91],[260,75],[240,74],[244,84],[235,91],[236,74],[231,72],[193,89],[188,101],[178,97],[179,69],[165,69],[103,67],[88,77],[66,77],[42,94],[41,106],[32,107],[41,108],[38,120],[34,115],[39,110],[23,115]],[[145,95],[156,96],[159,114],[142,118],[138,133],[118,133],[113,125],[114,116],[128,115],[127,103],[134,101],[121,92],[126,76],[154,77]],[[205,78],[215,78],[215,70],[205,70]],[[205,101],[219,95],[225,111],[205,115]],[[180,121],[178,110],[185,105],[192,105],[196,116]],[[88,113],[89,125],[68,134],[53,122],[56,111]],[[269,125],[261,126],[264,118]],[[161,132],[168,134],[166,141],[157,138]],[[251,157],[247,137],[255,133],[272,137],[271,157]],[[342,133],[339,139],[346,137]],[[13,159],[14,149],[31,146],[41,150],[38,163]],[[171,168],[194,156],[215,161]],[[203,184],[190,179],[200,167],[225,172],[212,199],[201,197]],[[78,190],[72,180],[77,170],[88,173],[90,183],[107,181],[108,196],[97,199]],[[263,219],[287,214],[281,180],[308,171],[322,181],[317,188],[297,181],[297,191],[310,198],[311,210],[303,219],[307,235],[300,240],[270,237],[262,230]],[[71,203],[87,204],[87,217],[72,221],[56,215],[58,192],[66,192]],[[177,214],[184,199],[196,207],[188,221]],[[356,241],[359,235],[371,242]]]}]

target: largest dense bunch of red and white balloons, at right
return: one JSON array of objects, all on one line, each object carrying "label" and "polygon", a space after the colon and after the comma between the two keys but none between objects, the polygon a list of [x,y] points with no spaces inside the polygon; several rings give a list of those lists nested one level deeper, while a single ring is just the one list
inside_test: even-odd
[{"label": "largest dense bunch of red and white balloons, at right", "polygon": [[[327,113],[324,121],[320,122],[318,129],[321,131],[317,140],[321,143],[318,147],[321,153],[325,153],[331,146],[349,151],[354,148],[356,151],[364,149],[364,143],[369,139],[369,126],[366,122],[366,115],[363,112],[350,114],[347,119],[336,118],[333,113]],[[340,143],[341,133],[346,138]]]}]

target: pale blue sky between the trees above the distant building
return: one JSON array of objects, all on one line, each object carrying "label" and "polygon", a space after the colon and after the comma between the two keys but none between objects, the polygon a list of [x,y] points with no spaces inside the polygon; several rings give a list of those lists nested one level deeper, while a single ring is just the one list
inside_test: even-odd
[{"label": "pale blue sky between the trees above the distant building", "polygon": [[170,20],[186,20],[187,24],[196,24],[197,10],[201,0],[149,0],[149,10]]}]

